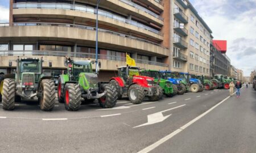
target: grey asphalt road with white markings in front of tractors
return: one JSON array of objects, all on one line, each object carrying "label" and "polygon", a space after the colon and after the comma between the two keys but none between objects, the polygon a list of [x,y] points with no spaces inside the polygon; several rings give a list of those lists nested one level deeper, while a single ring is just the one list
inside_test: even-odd
[{"label": "grey asphalt road with white markings in front of tractors", "polygon": [[77,112],[57,103],[0,106],[0,152],[255,152],[256,93],[227,90],[187,93],[112,109],[82,105]]}]

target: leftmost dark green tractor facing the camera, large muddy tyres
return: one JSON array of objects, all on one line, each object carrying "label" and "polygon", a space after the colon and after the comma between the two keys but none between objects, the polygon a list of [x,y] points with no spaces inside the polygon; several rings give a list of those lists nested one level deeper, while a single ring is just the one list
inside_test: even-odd
[{"label": "leftmost dark green tractor facing the camera, large muddy tyres", "polygon": [[40,109],[51,111],[55,104],[55,86],[51,74],[43,73],[43,58],[18,58],[15,61],[16,73],[4,75],[1,82],[2,108],[10,111],[15,108],[15,102],[38,97]]}]

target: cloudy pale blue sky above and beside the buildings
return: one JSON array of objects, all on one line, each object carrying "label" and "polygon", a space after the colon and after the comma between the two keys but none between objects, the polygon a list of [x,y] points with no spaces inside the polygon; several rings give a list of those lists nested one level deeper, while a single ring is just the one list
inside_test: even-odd
[{"label": "cloudy pale blue sky above and beside the buildings", "polygon": [[[245,76],[256,69],[256,0],[190,0],[212,29],[227,40],[231,64]],[[9,22],[9,0],[0,0],[0,23]]]}]

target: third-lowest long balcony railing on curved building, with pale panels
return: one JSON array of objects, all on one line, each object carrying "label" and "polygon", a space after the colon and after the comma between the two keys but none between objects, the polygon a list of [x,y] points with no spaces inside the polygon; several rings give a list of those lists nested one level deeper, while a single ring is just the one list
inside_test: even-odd
[{"label": "third-lowest long balcony railing on curved building, with pale panels", "polygon": [[[76,10],[76,11],[83,11],[83,12],[89,12],[92,14],[97,14],[96,9],[93,7],[81,6],[81,5],[69,5],[65,3],[14,3],[13,8],[51,8],[51,9]],[[123,18],[122,16],[118,16],[107,11],[98,10],[98,15],[105,16],[107,18],[112,18],[114,20],[118,20],[119,22],[131,24],[136,27],[146,29],[147,31],[154,32],[158,35],[163,35],[160,31],[157,31],[154,28],[135,22],[134,20]]]}]

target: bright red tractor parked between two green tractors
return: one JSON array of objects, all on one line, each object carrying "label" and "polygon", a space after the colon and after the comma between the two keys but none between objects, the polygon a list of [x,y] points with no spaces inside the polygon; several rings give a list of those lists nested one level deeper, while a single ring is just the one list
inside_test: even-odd
[{"label": "bright red tractor parked between two green tractors", "polygon": [[154,78],[139,75],[139,68],[134,66],[118,67],[118,77],[112,78],[110,84],[117,88],[118,99],[127,95],[133,104],[142,103],[145,96],[154,101],[163,96],[163,90],[154,83]]}]

